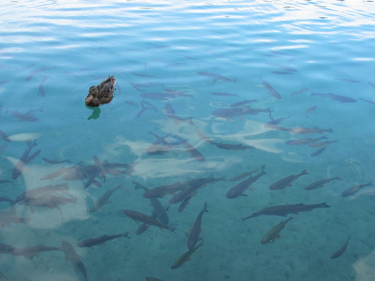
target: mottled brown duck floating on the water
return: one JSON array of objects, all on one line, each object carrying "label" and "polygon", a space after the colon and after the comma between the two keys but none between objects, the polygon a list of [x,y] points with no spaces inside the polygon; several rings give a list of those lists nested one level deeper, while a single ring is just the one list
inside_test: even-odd
[{"label": "mottled brown duck floating on the water", "polygon": [[116,78],[108,76],[103,82],[98,86],[91,86],[89,89],[89,94],[85,98],[85,103],[87,106],[98,107],[99,105],[104,105],[111,102],[113,99],[113,86],[116,84]]}]

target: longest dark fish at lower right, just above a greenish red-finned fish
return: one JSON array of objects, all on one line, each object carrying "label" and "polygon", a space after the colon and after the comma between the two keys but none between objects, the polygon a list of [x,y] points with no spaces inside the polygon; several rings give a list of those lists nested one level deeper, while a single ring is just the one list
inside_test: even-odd
[{"label": "longest dark fish at lower right, just above a greenish red-finned fish", "polygon": [[248,218],[258,217],[260,215],[276,215],[281,217],[286,217],[288,214],[296,214],[299,215],[299,212],[309,212],[314,210],[315,208],[330,208],[329,205],[326,204],[327,202],[319,203],[319,204],[311,204],[305,205],[303,203],[295,204],[295,205],[276,205],[261,209],[254,214],[249,215],[248,217],[242,218],[242,221],[247,220]]}]

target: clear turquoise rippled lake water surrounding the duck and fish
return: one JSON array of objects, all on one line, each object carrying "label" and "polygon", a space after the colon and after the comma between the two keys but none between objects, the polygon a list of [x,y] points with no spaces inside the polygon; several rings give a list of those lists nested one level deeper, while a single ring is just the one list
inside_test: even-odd
[{"label": "clear turquoise rippled lake water surrounding the duck and fish", "polygon": [[[7,145],[0,155],[0,179],[13,181],[12,171],[27,149],[28,139],[37,143],[31,154],[41,149],[14,186],[1,184],[1,196],[15,200],[33,188],[68,183],[69,193],[78,203],[59,205],[63,221],[55,208],[35,207],[31,212],[28,206],[16,203],[17,215],[30,217],[30,226],[6,224],[0,229],[1,244],[21,249],[40,243],[60,247],[62,241],[68,241],[81,256],[88,280],[145,280],[151,276],[165,281],[374,280],[375,189],[368,186],[341,197],[347,188],[375,177],[374,104],[364,101],[375,101],[374,2],[29,0],[6,1],[0,7],[0,129],[10,139],[0,139],[0,145]],[[296,71],[273,73],[286,71],[275,64]],[[215,80],[207,77],[212,73],[225,78],[212,84]],[[90,86],[108,75],[117,80],[113,101],[95,110],[87,108],[84,98]],[[272,96],[259,78],[282,98]],[[130,81],[162,85],[138,87],[142,92]],[[292,95],[303,88],[308,90]],[[144,101],[157,111],[147,109],[137,117],[142,109],[139,95],[163,93],[164,89],[184,94],[167,100],[147,98]],[[217,92],[234,96],[210,94]],[[311,96],[311,92],[357,101],[342,103]],[[290,115],[276,126],[333,128],[333,133],[324,132],[328,139],[323,141],[338,142],[312,157],[321,147],[285,142],[320,138],[321,134],[300,135],[265,127],[271,121],[269,112],[231,121],[211,114],[245,99],[257,99],[245,106],[272,107],[275,120]],[[177,117],[192,117],[194,125],[166,119],[163,109],[167,103]],[[317,108],[306,118],[313,106]],[[21,113],[42,110],[23,115],[37,121],[20,121],[17,113],[6,113],[6,108]],[[242,143],[255,149],[219,149],[204,142],[196,130],[216,143]],[[168,142],[177,141],[175,134],[187,139],[205,161],[189,157],[183,145],[165,154],[148,155],[145,149],[156,141],[150,131],[158,136],[171,133]],[[40,180],[80,161],[84,166],[93,165],[93,155],[109,163],[138,164],[132,176],[108,174],[105,181],[97,176],[102,187],[83,189],[86,179],[85,183],[61,177],[53,182]],[[69,159],[70,163],[48,164],[42,157]],[[261,172],[264,164],[267,174],[251,186],[254,191],[245,191],[247,197],[226,198],[240,181],[216,181],[199,189],[182,212],[177,211],[180,204],[171,205],[169,226],[176,227],[177,234],[151,226],[150,231],[136,235],[137,224],[123,212],[152,212],[150,200],[142,197],[142,190],[134,189],[132,181],[154,188],[211,174],[230,179],[254,169]],[[293,186],[270,190],[279,179],[304,169],[308,175],[292,182]],[[336,176],[341,179],[323,188],[304,189]],[[115,191],[98,211],[89,212],[102,194],[121,182],[123,190]],[[56,196],[69,198],[61,193]],[[172,196],[159,200],[166,205]],[[192,254],[191,261],[171,269],[188,251],[184,233],[205,202],[204,245]],[[241,220],[270,206],[321,202],[328,202],[330,208],[293,215],[281,237],[268,244],[260,243],[263,236],[287,217],[261,215]],[[9,202],[0,202],[0,206],[2,212],[11,211]],[[76,247],[85,239],[123,232],[129,232],[131,238],[93,246],[95,251]],[[349,235],[347,250],[330,259]],[[71,262],[65,262],[62,251],[38,256],[33,263],[14,252],[2,253],[0,272],[8,280],[84,280]]]}]

